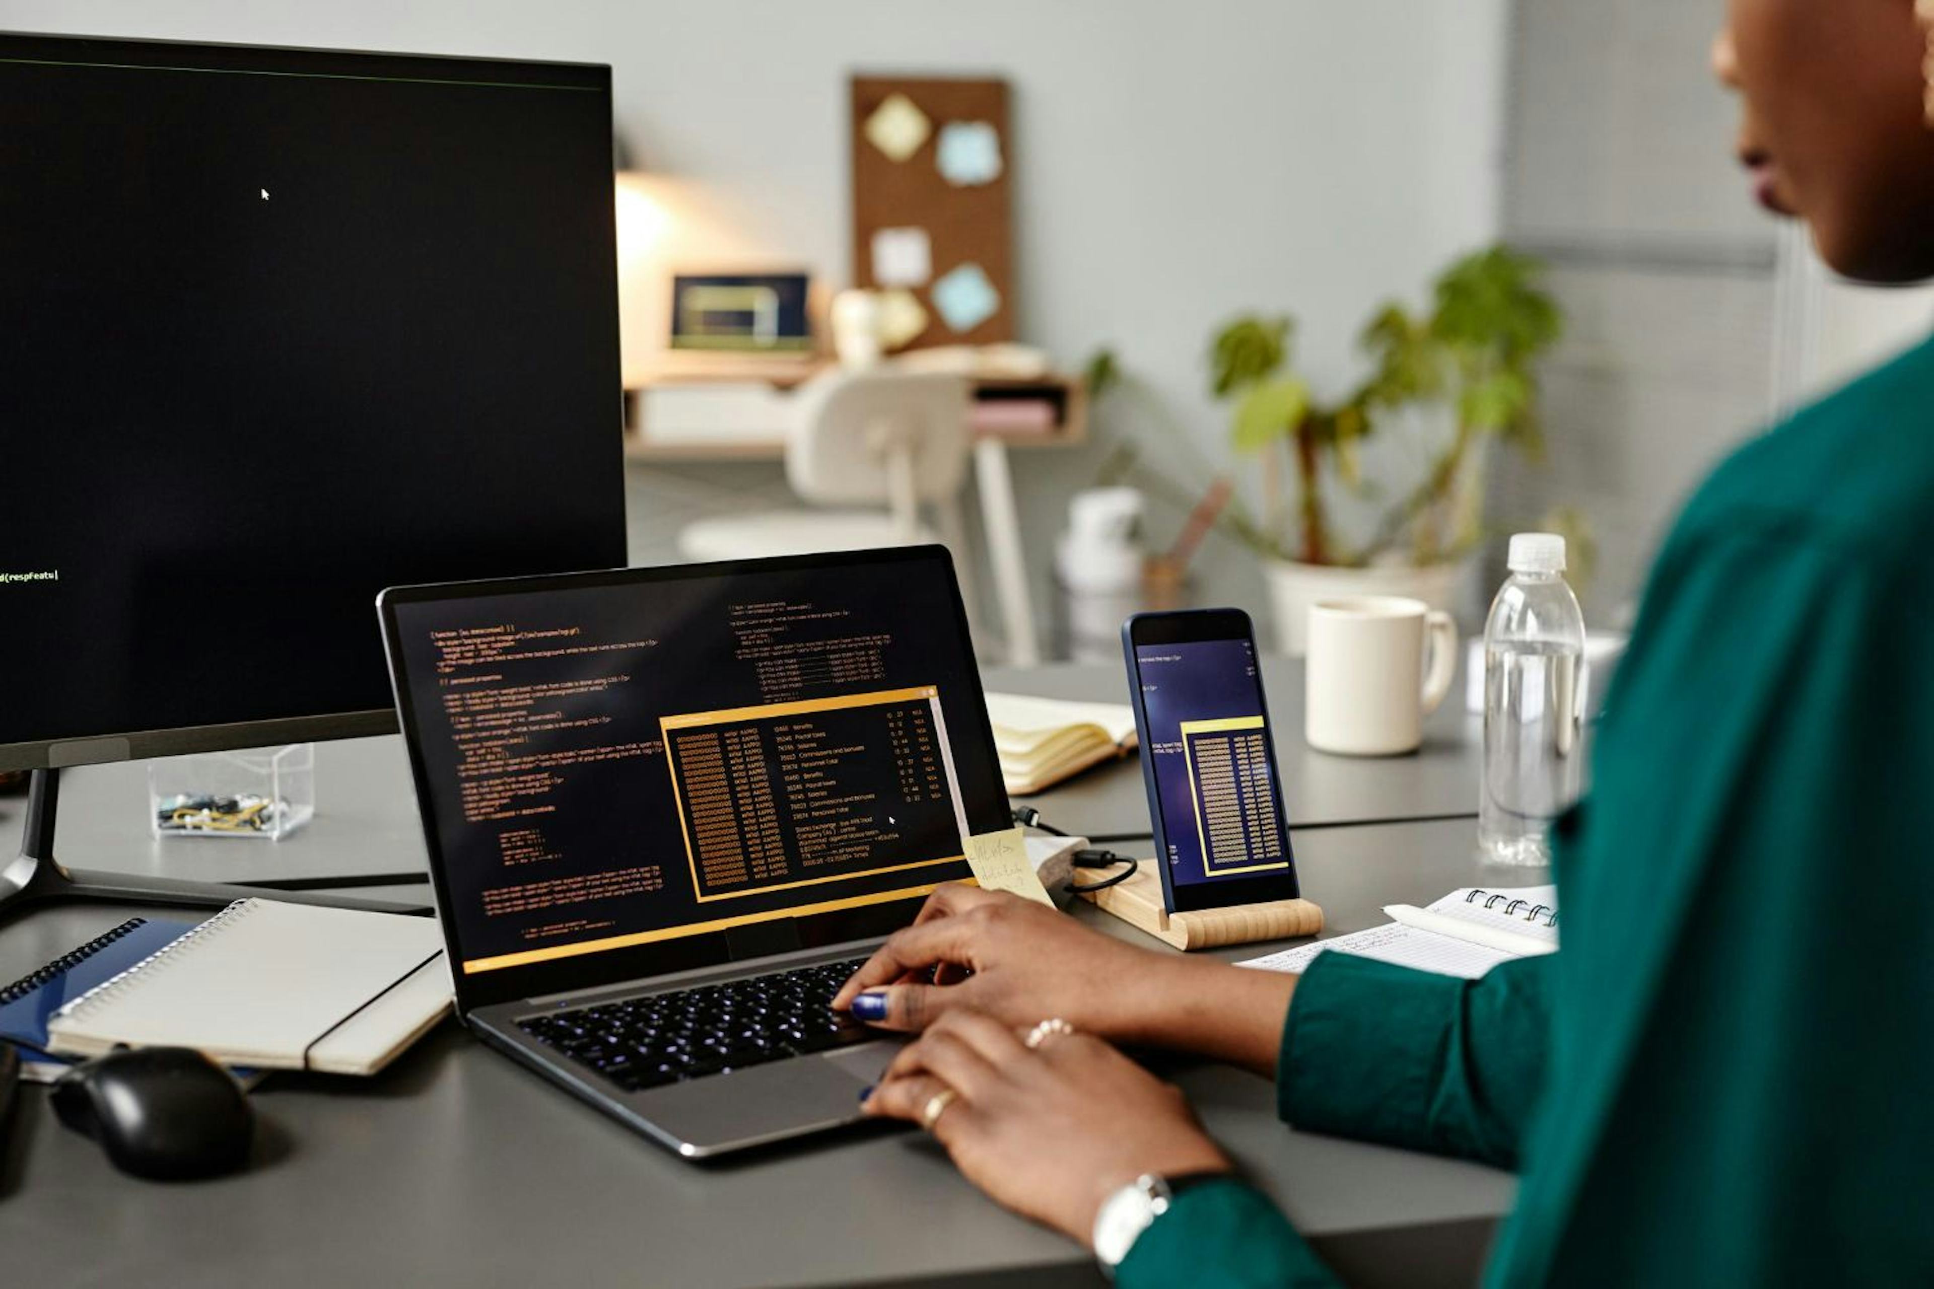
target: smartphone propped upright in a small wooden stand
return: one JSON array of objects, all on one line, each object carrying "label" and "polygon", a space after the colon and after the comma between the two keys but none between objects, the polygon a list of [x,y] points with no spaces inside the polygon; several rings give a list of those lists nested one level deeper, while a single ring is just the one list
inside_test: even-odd
[{"label": "smartphone propped upright in a small wooden stand", "polygon": [[1122,651],[1168,912],[1296,899],[1249,615],[1137,613]]}]

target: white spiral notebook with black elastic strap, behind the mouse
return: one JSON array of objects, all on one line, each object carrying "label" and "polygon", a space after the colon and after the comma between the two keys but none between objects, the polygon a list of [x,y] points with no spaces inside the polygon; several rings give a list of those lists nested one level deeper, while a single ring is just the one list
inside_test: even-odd
[{"label": "white spiral notebook with black elastic strap, behind the mouse", "polygon": [[77,1057],[166,1046],[373,1074],[449,1009],[433,918],[248,899],[62,1007],[46,1034]]}]

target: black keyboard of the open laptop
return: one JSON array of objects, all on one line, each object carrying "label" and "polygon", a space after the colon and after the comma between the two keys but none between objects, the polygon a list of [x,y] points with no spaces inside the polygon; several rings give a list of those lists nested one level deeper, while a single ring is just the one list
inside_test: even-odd
[{"label": "black keyboard of the open laptop", "polygon": [[832,1011],[834,993],[864,960],[650,993],[516,1024],[627,1092],[659,1088],[880,1038],[878,1030]]}]

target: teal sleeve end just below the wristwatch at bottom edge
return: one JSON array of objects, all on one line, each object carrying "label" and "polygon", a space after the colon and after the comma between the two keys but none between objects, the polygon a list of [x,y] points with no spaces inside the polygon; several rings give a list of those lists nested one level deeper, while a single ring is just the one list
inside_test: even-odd
[{"label": "teal sleeve end just below the wristwatch at bottom edge", "polygon": [[1114,1275],[1126,1289],[1336,1285],[1296,1227],[1253,1187],[1213,1181],[1174,1198]]}]

